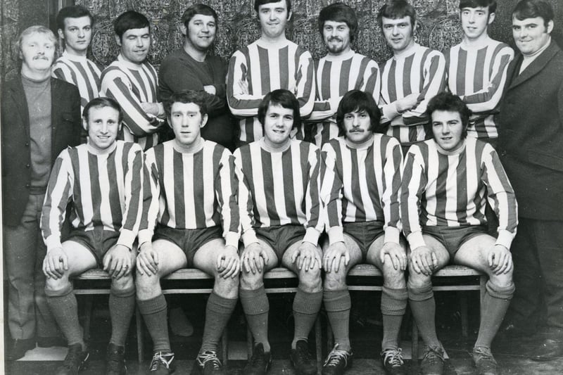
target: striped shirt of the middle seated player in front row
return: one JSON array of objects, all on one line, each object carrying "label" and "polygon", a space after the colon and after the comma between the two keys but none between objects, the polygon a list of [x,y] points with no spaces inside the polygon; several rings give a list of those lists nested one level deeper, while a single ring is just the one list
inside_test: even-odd
[{"label": "striped shirt of the middle seated player in front row", "polygon": [[253,228],[303,225],[303,241],[317,244],[323,222],[319,198],[320,151],[292,139],[284,151],[268,151],[263,139],[234,151],[239,179],[242,239],[255,239]]}]

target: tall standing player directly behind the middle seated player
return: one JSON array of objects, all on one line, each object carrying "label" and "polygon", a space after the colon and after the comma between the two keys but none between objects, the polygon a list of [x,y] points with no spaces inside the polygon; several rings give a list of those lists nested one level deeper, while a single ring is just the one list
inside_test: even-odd
[{"label": "tall standing player directly behind the middle seated player", "polygon": [[[310,115],[315,102],[312,56],[286,39],[291,0],[255,0],[254,10],[260,21],[260,39],[233,54],[227,73],[227,102],[240,119],[241,144],[258,141],[264,135],[258,106],[270,91],[291,91],[299,101],[301,117]],[[303,129],[297,136],[303,138]]]}]

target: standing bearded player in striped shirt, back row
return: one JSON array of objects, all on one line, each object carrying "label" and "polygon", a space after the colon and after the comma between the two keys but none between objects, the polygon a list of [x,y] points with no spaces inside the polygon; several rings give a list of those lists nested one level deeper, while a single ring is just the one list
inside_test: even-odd
[{"label": "standing bearded player in striped shirt, back row", "polygon": [[369,92],[379,102],[379,66],[350,49],[358,30],[358,18],[350,6],[334,3],[322,8],[319,32],[328,53],[316,67],[317,96],[309,120],[318,121],[315,144],[321,147],[339,136],[336,110],[344,94],[352,89]]}]

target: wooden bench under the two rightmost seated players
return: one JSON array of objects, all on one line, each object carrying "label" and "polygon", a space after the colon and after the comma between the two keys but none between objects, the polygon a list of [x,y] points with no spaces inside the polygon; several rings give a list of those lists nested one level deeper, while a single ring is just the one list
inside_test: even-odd
[{"label": "wooden bench under the two rightmost seated players", "polygon": [[[487,277],[474,269],[464,266],[446,266],[432,276],[434,291],[480,291],[480,302],[485,293]],[[350,269],[346,282],[350,291],[381,291],[383,274],[374,265],[356,265]],[[467,337],[467,296],[460,293],[462,335]],[[333,337],[327,324],[327,349],[331,350]],[[418,358],[418,329],[412,322],[412,358]]]}]

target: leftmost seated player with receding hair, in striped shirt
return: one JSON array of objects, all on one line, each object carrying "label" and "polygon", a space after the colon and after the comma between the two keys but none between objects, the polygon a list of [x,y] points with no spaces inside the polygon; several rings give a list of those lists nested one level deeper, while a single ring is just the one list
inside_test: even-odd
[{"label": "leftmost seated player with receding hair, in striped shirt", "polygon": [[[116,141],[123,114],[110,98],[84,107],[88,143],[65,149],[53,166],[41,217],[47,254],[43,262],[47,304],[68,341],[57,375],[77,374],[88,359],[70,277],[103,267],[111,276],[111,338],[106,374],[125,374],[124,345],[135,307],[132,268],[141,216],[143,151]],[[94,184],[92,182],[95,182]],[[67,204],[70,237],[61,244]]]}]

